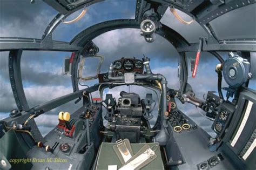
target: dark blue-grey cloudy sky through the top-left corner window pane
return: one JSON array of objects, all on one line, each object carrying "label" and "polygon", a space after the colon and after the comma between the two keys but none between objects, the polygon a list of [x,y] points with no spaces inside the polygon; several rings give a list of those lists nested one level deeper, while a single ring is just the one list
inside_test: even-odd
[{"label": "dark blue-grey cloudy sky through the top-left corner window pane", "polygon": [[0,37],[41,38],[46,26],[57,14],[43,1],[2,1]]}]

